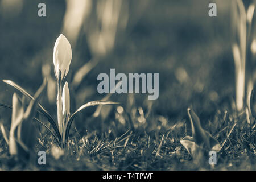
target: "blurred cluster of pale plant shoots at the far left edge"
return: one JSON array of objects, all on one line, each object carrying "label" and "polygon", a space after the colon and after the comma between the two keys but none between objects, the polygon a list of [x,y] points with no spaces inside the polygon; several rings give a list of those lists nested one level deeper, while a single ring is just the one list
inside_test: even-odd
[{"label": "blurred cluster of pale plant shoots at the far left edge", "polygon": [[45,88],[46,81],[43,82],[42,86],[35,93],[34,100],[30,101],[27,109],[24,107],[24,99],[20,100],[16,93],[13,94],[13,110],[9,138],[1,123],[3,136],[9,144],[9,153],[18,156],[20,159],[27,159],[30,151],[34,147],[38,133],[31,121],[34,118],[39,98],[42,96]]}]

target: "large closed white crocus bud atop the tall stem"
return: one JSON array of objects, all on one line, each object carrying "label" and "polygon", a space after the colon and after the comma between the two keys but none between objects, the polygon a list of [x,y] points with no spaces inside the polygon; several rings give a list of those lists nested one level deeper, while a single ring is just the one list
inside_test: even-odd
[{"label": "large closed white crocus bud atop the tall stem", "polygon": [[68,39],[63,34],[60,34],[55,42],[53,51],[54,72],[57,80],[63,80],[67,76],[71,59],[71,45]]}]

